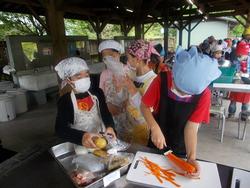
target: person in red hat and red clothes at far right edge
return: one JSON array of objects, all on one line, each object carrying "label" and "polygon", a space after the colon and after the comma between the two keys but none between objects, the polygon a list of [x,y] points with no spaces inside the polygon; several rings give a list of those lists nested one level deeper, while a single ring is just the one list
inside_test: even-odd
[{"label": "person in red hat and red clothes at far right edge", "polygon": [[[236,56],[237,61],[234,61],[234,66],[236,66],[236,70],[238,73],[247,73],[249,77],[249,70],[247,70],[248,63],[250,63],[250,46],[245,41],[242,40],[238,43],[236,47]],[[244,67],[242,65],[245,64]],[[246,79],[248,80],[248,79]],[[240,93],[240,92],[231,92],[229,95],[229,99],[231,100],[230,105],[228,107],[228,117],[232,118],[235,116],[236,112],[236,102],[242,103],[241,105],[241,111],[246,112],[250,111],[250,93]]]}]

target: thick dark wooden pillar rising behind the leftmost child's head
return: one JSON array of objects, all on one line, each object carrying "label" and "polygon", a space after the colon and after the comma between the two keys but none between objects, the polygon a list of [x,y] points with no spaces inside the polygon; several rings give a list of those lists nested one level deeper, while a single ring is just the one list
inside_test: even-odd
[{"label": "thick dark wooden pillar rising behind the leftmost child's head", "polygon": [[64,12],[57,10],[54,0],[46,1],[46,21],[48,35],[52,39],[54,65],[67,57],[67,40],[65,36]]}]

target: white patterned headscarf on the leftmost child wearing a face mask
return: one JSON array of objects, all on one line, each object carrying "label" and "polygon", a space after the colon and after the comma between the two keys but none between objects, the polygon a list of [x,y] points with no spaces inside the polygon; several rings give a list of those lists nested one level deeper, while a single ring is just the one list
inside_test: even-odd
[{"label": "white patterned headscarf on the leftmost child wearing a face mask", "polygon": [[60,61],[55,66],[55,70],[58,76],[62,80],[65,80],[66,78],[74,76],[81,71],[89,70],[89,67],[83,59],[79,57],[69,57]]}]

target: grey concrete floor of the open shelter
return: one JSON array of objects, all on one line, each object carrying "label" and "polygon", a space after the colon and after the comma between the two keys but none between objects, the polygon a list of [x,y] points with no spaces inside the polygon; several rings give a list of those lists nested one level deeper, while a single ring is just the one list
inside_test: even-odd
[{"label": "grey concrete floor of the open shelter", "polygon": [[[228,102],[225,102],[228,106]],[[50,102],[39,108],[19,115],[15,120],[0,123],[0,138],[5,148],[14,151],[23,149],[43,141],[54,135],[56,103]],[[216,119],[210,125],[202,125],[198,133],[199,159],[217,162],[250,170],[250,128],[245,141],[237,139],[237,123],[226,122],[224,142],[220,143],[220,130],[216,128]]]}]

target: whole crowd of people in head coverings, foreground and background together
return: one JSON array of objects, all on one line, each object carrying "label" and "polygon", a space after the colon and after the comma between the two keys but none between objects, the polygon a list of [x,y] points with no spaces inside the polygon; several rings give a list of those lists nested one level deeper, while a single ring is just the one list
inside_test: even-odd
[{"label": "whole crowd of people in head coverings, foreground and background together", "polygon": [[[98,51],[106,69],[100,75],[99,88],[94,89],[83,59],[62,60],[55,70],[63,81],[61,89],[69,89],[58,101],[57,134],[88,148],[96,147],[93,137],[103,132],[159,151],[171,149],[196,167],[187,176],[197,177],[197,132],[201,123],[210,121],[209,85],[220,77],[219,66],[225,60],[242,77],[249,75],[249,67],[242,63],[250,64],[249,29],[241,41],[211,36],[187,50],[179,46],[174,58],[165,57],[160,44],[135,40],[126,48],[125,64],[120,62],[121,44],[105,40]],[[172,66],[169,59],[173,59]],[[235,113],[235,102],[248,110],[249,94],[231,93],[230,99],[230,114]]]}]

